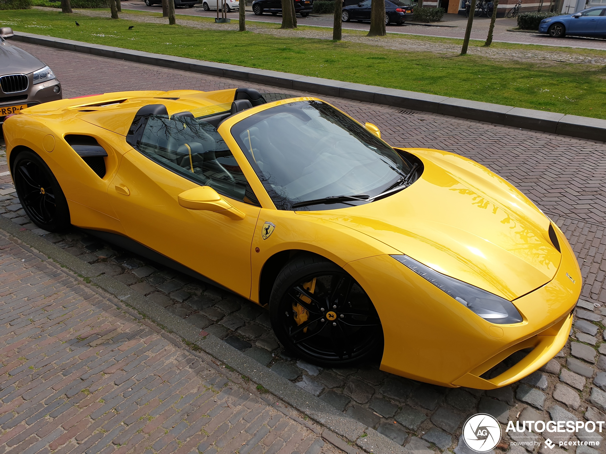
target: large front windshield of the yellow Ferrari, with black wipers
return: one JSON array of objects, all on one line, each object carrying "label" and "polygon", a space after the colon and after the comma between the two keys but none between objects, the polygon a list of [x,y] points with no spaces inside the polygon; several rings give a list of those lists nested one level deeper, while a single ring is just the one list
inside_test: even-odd
[{"label": "large front windshield of the yellow Ferrari, with black wipers", "polygon": [[[402,186],[413,170],[383,140],[318,100],[271,107],[236,123],[231,134],[278,209],[368,203]],[[314,200],[324,202],[304,204]]]}]

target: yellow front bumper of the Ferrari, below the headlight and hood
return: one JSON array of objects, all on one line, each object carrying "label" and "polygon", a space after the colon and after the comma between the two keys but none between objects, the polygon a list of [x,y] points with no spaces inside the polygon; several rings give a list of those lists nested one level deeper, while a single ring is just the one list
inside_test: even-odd
[{"label": "yellow front bumper of the Ferrari, below the headlight and hood", "polygon": [[[493,389],[544,366],[566,343],[570,314],[581,293],[576,258],[561,232],[558,238],[558,272],[541,288],[513,301],[524,320],[511,325],[488,323],[392,257],[348,263],[345,270],[365,289],[381,318],[381,370],[440,386]],[[530,354],[497,377],[481,377],[528,348],[533,348]]]}]

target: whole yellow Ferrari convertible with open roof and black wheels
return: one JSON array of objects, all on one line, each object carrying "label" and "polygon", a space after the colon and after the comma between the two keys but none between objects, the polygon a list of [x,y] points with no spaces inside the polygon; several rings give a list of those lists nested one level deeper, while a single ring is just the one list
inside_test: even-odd
[{"label": "whole yellow Ferrari convertible with open roof and black wheels", "polygon": [[267,306],[307,361],[491,389],[568,338],[581,274],[558,226],[484,166],[392,148],[321,99],[105,93],[24,109],[4,135],[36,225]]}]

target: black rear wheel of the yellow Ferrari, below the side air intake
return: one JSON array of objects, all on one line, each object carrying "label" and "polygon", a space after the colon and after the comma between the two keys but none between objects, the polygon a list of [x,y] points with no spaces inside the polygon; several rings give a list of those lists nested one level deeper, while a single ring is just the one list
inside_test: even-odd
[{"label": "black rear wheel of the yellow Ferrari, below the side air intake", "polygon": [[19,153],[13,165],[13,177],[19,202],[39,228],[56,232],[70,225],[70,211],[61,186],[38,154]]}]

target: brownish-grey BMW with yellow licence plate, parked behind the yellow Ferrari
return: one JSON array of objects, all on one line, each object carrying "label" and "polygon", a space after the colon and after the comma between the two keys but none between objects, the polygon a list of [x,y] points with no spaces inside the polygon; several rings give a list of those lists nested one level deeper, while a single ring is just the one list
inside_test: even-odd
[{"label": "brownish-grey BMW with yellow licence plate, parked behind the yellow Ferrari", "polygon": [[63,97],[53,71],[32,54],[7,42],[11,36],[11,28],[0,28],[0,124],[7,115]]}]

